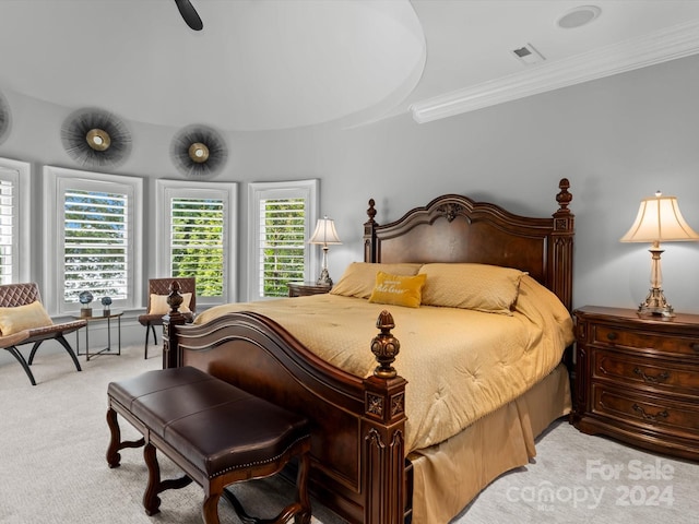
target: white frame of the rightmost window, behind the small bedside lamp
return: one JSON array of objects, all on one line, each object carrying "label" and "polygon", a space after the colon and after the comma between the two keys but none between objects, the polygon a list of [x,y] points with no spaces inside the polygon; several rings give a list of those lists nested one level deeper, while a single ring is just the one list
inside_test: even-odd
[{"label": "white frame of the rightmost window, behind the small bedside lamp", "polygon": [[[251,182],[248,184],[248,288],[247,300],[265,300],[260,296],[260,202],[269,199],[304,199],[308,210],[306,213],[306,235],[316,227],[319,207],[318,179],[295,180],[286,182]],[[318,258],[311,257],[313,249],[305,250],[304,279],[317,273]]]}]

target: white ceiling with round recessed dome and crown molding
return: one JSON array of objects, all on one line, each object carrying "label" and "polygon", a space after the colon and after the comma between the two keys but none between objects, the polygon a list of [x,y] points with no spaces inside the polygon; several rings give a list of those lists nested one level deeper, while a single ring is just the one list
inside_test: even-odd
[{"label": "white ceiling with round recessed dome and crown molding", "polygon": [[[201,32],[171,0],[0,0],[0,92],[171,127],[348,127],[699,52],[697,0],[191,1]],[[557,25],[581,5],[599,16]],[[545,60],[517,58],[525,46]]]}]

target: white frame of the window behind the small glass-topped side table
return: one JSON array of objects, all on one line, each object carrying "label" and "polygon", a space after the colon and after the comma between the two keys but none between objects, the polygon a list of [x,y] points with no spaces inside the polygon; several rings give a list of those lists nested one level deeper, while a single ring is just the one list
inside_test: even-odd
[{"label": "white frame of the window behind the small glass-topped side table", "polygon": [[[123,192],[128,195],[129,259],[127,262],[128,298],[115,300],[112,308],[134,309],[142,303],[143,282],[143,179],[123,175],[44,167],[44,287],[42,298],[49,312],[75,313],[80,303],[63,300],[64,193],[66,190]],[[44,296],[46,295],[46,297]]]}]

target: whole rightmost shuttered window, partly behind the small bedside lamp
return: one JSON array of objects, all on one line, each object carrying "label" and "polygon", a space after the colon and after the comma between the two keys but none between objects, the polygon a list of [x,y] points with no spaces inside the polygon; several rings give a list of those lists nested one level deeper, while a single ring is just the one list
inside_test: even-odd
[{"label": "whole rightmost shuttered window, partly behind the small bedside lamp", "polygon": [[289,281],[307,281],[316,260],[307,242],[316,224],[318,180],[249,186],[248,298],[288,296]]}]

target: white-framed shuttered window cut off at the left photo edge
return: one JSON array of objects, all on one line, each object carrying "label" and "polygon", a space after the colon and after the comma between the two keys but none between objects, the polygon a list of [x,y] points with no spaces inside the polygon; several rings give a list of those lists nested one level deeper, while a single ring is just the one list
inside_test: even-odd
[{"label": "white-framed shuttered window cut off at the left photo edge", "polygon": [[0,158],[0,284],[29,276],[29,164]]}]

